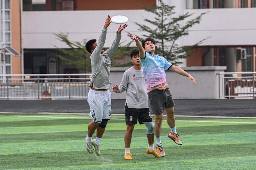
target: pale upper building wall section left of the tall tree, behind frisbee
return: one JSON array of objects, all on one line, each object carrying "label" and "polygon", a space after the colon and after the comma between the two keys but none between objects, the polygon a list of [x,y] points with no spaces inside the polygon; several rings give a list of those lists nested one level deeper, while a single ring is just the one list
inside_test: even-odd
[{"label": "pale upper building wall section left of the tall tree, behind frisbee", "polygon": [[[102,11],[25,11],[22,13],[22,47],[23,48],[67,48],[56,39],[53,33],[68,33],[70,40],[97,39],[104,26],[105,18],[124,15],[129,18],[127,28],[122,32],[121,42],[132,41],[127,31],[141,35],[133,22],[145,24],[144,18],[152,17],[144,10],[102,10]],[[104,47],[113,43],[119,25],[111,23],[108,27]],[[132,46],[136,46],[133,42]]]}]

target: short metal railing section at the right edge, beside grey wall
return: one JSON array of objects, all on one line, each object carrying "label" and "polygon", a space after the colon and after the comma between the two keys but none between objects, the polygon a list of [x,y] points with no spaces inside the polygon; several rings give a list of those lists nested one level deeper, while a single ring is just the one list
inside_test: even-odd
[{"label": "short metal railing section at the right edge, beside grey wall", "polygon": [[217,74],[220,98],[255,99],[256,72],[221,72]]}]

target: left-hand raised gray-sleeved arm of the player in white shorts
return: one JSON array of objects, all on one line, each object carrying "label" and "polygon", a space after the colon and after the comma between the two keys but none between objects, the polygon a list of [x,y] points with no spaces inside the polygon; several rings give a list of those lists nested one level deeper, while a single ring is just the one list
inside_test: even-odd
[{"label": "left-hand raised gray-sleeved arm of the player in white shorts", "polygon": [[103,27],[103,29],[101,31],[101,34],[100,34],[98,43],[96,45],[96,48],[93,50],[92,55],[91,55],[91,60],[93,62],[99,61],[102,48],[104,47],[104,44],[105,44],[105,41],[106,41],[106,35],[107,35],[108,26],[111,23],[110,20],[111,20],[111,18],[108,15],[108,18],[106,18],[104,27]]}]

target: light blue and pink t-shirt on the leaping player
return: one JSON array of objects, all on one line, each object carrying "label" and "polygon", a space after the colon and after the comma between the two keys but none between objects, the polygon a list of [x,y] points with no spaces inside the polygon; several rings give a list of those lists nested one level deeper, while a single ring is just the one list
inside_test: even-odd
[{"label": "light blue and pink t-shirt on the leaping player", "polygon": [[164,57],[157,54],[156,57],[154,57],[148,52],[146,52],[144,59],[140,58],[140,62],[143,68],[147,89],[166,83],[164,70],[169,70],[172,67],[172,63],[168,62]]}]

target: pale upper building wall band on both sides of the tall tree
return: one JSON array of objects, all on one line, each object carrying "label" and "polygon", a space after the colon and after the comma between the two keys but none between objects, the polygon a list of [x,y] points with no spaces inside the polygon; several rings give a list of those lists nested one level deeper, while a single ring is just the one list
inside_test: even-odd
[{"label": "pale upper building wall band on both sides of the tall tree", "polygon": [[[202,18],[200,25],[189,30],[189,35],[181,38],[180,45],[193,45],[196,42],[211,37],[201,45],[255,45],[256,44],[256,8],[226,8],[226,9],[185,9],[185,1],[177,5],[177,13],[195,13],[192,18],[202,12],[208,12]],[[124,15],[129,18],[128,27],[123,32],[121,41],[125,43],[131,39],[127,32],[141,35],[133,22],[146,24],[145,18],[153,18],[144,10],[102,10],[102,11],[25,11],[22,12],[22,47],[23,48],[65,48],[53,33],[69,33],[73,41],[83,39],[98,39],[100,31],[108,16]],[[244,19],[246,18],[246,19]],[[250,22],[252,21],[252,22]],[[108,28],[105,47],[113,42],[117,31],[117,24],[112,23]],[[135,46],[135,43],[132,44]]]}]

